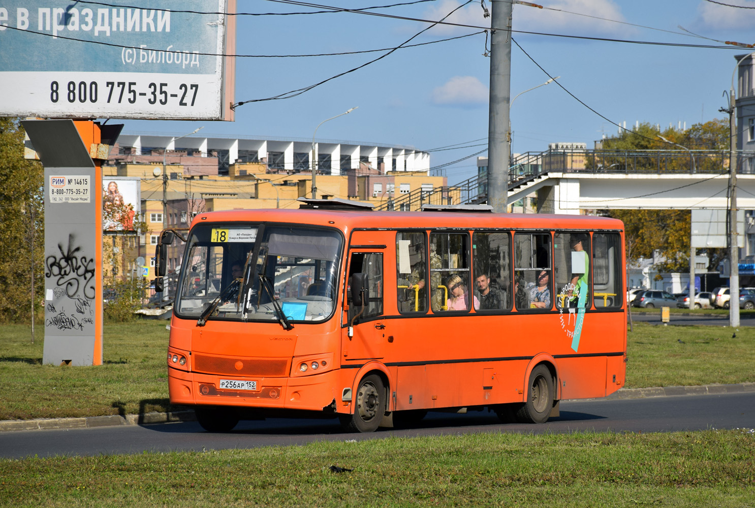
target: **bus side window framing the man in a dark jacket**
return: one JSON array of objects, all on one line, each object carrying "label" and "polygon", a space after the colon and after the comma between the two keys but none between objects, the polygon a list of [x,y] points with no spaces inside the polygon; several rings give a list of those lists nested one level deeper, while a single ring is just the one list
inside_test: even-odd
[{"label": "bus side window framing the man in a dark jacket", "polygon": [[511,236],[507,232],[474,232],[474,295],[478,312],[511,309]]}]

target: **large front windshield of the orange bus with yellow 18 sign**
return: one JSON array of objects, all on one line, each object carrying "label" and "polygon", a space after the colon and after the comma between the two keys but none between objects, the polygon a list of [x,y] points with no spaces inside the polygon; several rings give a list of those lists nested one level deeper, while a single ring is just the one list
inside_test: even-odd
[{"label": "large front windshield of the orange bus with yellow 18 sign", "polygon": [[[281,311],[288,322],[328,319],[342,245],[334,229],[199,224],[186,245],[176,315],[199,319],[214,307],[209,320],[278,322]],[[245,287],[250,291],[246,312],[239,291]]]}]

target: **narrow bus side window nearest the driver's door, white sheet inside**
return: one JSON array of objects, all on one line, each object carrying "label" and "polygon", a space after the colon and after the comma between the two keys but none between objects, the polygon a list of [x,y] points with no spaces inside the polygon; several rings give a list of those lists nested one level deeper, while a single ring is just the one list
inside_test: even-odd
[{"label": "narrow bus side window nearest the driver's door, white sheet inside", "polygon": [[396,304],[399,312],[427,312],[426,252],[424,233],[396,233]]}]

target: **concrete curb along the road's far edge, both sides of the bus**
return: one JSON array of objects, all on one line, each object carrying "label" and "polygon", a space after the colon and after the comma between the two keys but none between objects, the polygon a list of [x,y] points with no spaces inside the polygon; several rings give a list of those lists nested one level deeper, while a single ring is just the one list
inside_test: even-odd
[{"label": "concrete curb along the road's far edge, both sides of the bus", "polygon": [[[659,388],[621,388],[606,399],[643,399],[680,395],[720,395],[722,393],[755,392],[755,383],[709,384],[704,386],[664,386]],[[91,429],[102,426],[156,425],[195,421],[194,411],[127,414],[81,418],[39,418],[36,420],[0,420],[0,432],[15,430]]]}]

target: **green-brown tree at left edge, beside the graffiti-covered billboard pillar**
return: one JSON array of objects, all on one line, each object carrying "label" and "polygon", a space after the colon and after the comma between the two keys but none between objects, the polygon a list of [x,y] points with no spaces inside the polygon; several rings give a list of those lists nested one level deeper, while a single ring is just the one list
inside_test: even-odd
[{"label": "green-brown tree at left edge, beside the graffiti-covered billboard pillar", "polygon": [[42,316],[45,174],[23,158],[23,138],[18,119],[0,117],[0,322]]}]

